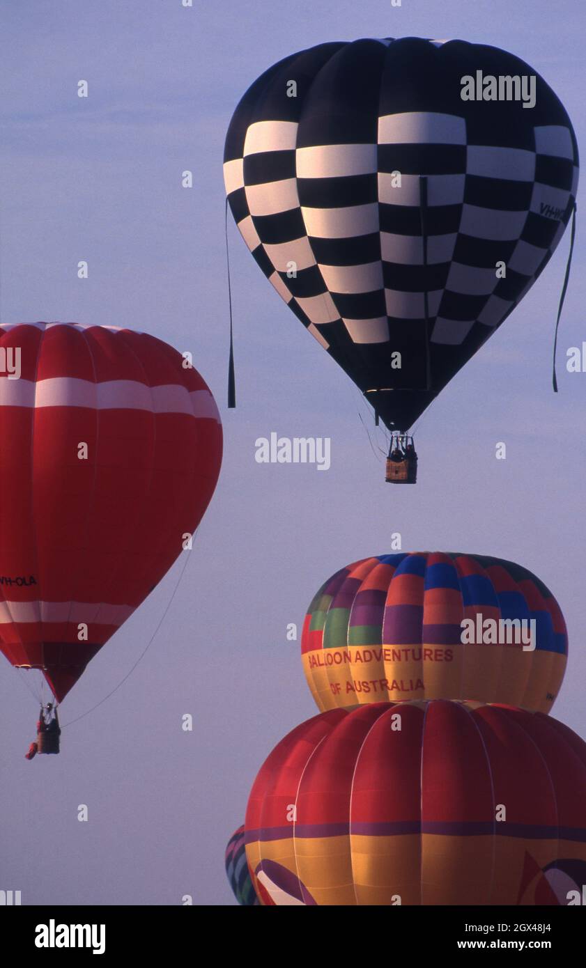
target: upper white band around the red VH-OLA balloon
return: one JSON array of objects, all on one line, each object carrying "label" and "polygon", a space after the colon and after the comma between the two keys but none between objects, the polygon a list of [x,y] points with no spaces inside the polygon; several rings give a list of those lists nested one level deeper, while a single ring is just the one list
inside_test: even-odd
[{"label": "upper white band around the red VH-OLA balloon", "polygon": [[205,393],[208,391],[190,393],[180,383],[149,387],[131,379],[102,383],[72,377],[40,379],[37,383],[29,379],[0,379],[0,407],[87,407],[193,413],[193,398],[200,401],[202,398],[198,394]]}]

